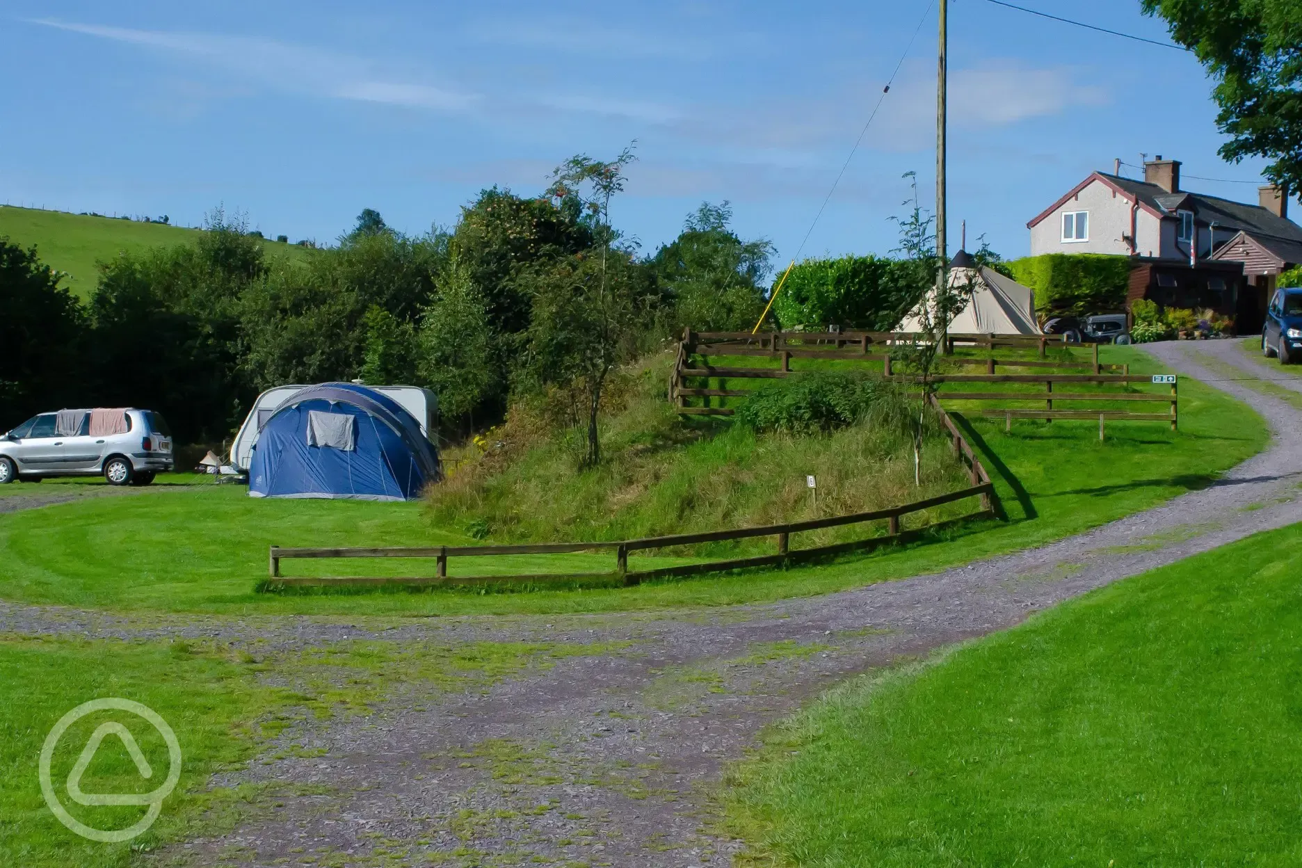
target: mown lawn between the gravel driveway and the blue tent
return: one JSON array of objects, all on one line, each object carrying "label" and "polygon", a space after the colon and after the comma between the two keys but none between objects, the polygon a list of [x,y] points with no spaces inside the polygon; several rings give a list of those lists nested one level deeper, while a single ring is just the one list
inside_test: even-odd
[{"label": "mown lawn between the gravel driveway and the blue tent", "polygon": [[[1137,372],[1160,368],[1128,347]],[[266,576],[267,547],[474,544],[435,527],[418,504],[264,501],[234,487],[156,488],[125,497],[0,514],[0,599],[137,610],[229,614],[319,613],[457,614],[512,612],[620,612],[721,605],[825,593],[915,575],[1039,545],[1200,488],[1267,441],[1264,422],[1245,405],[1182,380],[1181,427],[1113,423],[1098,441],[1091,422],[1052,424],[962,419],[995,476],[1004,522],[948,531],[943,537],[824,566],[654,582],[635,588],[529,593],[370,593],[281,596],[253,592]],[[803,468],[799,472],[806,472]],[[48,485],[49,483],[42,483]],[[871,480],[865,480],[871,484]],[[9,488],[17,488],[10,485]],[[39,488],[39,487],[33,487]],[[475,573],[605,570],[609,554],[492,558]],[[486,561],[488,561],[486,558]],[[633,557],[641,569],[651,558]],[[294,571],[411,574],[391,561],[285,562]],[[432,565],[421,569],[431,570]]]}]

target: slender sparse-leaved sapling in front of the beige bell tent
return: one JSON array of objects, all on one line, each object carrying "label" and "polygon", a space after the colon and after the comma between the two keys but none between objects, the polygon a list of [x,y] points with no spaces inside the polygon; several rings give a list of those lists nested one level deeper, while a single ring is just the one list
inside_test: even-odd
[{"label": "slender sparse-leaved sapling in front of the beige bell tent", "polygon": [[894,217],[900,225],[900,246],[891,252],[905,263],[905,273],[914,286],[918,303],[910,312],[917,331],[907,342],[896,344],[893,357],[910,372],[919,387],[918,415],[913,424],[913,479],[922,485],[922,441],[926,431],[927,405],[936,392],[936,364],[948,341],[949,323],[967,307],[973,294],[969,277],[952,278],[948,263],[936,254],[935,217],[918,203],[918,178],[911,180],[913,197],[905,217]]}]

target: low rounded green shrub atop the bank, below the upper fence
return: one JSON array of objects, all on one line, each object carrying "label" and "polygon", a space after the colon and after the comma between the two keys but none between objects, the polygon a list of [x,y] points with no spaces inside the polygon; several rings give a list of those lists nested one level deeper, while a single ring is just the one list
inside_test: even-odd
[{"label": "low rounded green shrub atop the bank, below the upper fence", "polygon": [[755,431],[810,433],[859,422],[904,429],[909,407],[904,394],[880,377],[854,373],[806,373],[755,389],[736,418]]}]

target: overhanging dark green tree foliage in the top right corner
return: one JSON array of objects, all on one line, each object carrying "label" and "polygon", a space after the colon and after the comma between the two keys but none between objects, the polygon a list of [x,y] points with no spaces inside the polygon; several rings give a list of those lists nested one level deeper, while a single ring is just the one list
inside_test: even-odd
[{"label": "overhanging dark green tree foliage in the top right corner", "polygon": [[1141,0],[1216,79],[1220,155],[1271,160],[1266,177],[1302,191],[1302,1]]}]

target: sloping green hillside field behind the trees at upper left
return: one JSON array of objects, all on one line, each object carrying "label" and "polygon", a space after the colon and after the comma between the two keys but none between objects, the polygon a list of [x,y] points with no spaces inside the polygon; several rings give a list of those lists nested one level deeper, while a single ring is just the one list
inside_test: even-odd
[{"label": "sloping green hillside field behind the trees at upper left", "polygon": [[[148,247],[184,245],[194,241],[198,229],[161,223],[137,223],[113,217],[92,217],[64,211],[0,206],[0,237],[22,247],[36,246],[40,260],[56,271],[68,272],[62,285],[78,298],[87,298],[99,282],[95,263],[121,251],[139,252]],[[302,255],[301,247],[267,241],[268,252]]]}]

